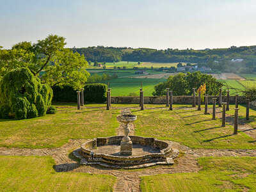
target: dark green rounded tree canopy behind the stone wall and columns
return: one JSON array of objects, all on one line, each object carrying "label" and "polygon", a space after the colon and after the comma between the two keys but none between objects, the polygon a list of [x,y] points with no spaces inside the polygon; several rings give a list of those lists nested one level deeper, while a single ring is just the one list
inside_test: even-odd
[{"label": "dark green rounded tree canopy behind the stone wall and columns", "polygon": [[179,73],[176,76],[168,77],[164,83],[157,84],[152,93],[154,96],[166,95],[166,88],[173,91],[173,95],[191,95],[193,88],[199,88],[206,84],[206,92],[210,95],[217,95],[222,83],[216,81],[214,77],[201,72],[187,72],[186,74]]}]

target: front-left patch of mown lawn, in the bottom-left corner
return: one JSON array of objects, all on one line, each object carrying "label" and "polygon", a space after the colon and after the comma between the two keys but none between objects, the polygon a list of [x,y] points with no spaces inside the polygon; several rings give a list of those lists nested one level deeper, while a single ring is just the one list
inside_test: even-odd
[{"label": "front-left patch of mown lawn, in the bottom-left corner", "polygon": [[0,191],[113,191],[112,175],[56,173],[52,157],[0,156]]}]

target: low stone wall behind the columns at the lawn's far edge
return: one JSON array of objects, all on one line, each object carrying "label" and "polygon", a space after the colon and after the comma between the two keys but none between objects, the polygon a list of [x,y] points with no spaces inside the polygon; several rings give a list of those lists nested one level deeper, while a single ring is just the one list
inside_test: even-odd
[{"label": "low stone wall behind the columns at the lawn's far edge", "polygon": [[[209,104],[212,104],[212,98],[217,98],[217,104],[219,102],[219,95],[209,95]],[[173,104],[192,104],[193,96],[173,96]],[[222,102],[227,102],[227,96],[222,97]],[[111,97],[111,103],[120,104],[139,104],[140,97]],[[166,104],[166,97],[144,97],[145,104]],[[235,96],[229,97],[229,103],[235,103]],[[246,99],[243,96],[238,96],[238,103],[245,104]],[[196,97],[196,104],[198,104],[198,97]],[[202,102],[204,104],[204,102]]]}]

